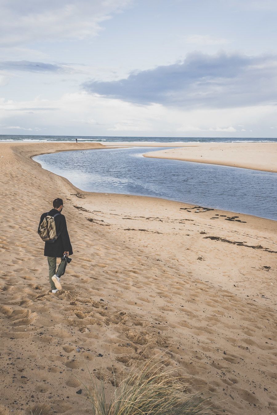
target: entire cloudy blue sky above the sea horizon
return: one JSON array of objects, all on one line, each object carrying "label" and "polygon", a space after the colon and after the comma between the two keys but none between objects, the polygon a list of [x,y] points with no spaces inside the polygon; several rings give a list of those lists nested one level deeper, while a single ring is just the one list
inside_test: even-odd
[{"label": "entire cloudy blue sky above the sea horizon", "polygon": [[276,0],[0,0],[0,134],[277,137]]}]

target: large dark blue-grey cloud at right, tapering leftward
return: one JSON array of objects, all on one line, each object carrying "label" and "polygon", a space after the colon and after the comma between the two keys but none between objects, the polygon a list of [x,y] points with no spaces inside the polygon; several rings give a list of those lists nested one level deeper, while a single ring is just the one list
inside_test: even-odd
[{"label": "large dark blue-grey cloud at right, tapering leftward", "polygon": [[88,81],[83,88],[142,105],[242,107],[276,100],[276,69],[277,56],[194,52],[183,62],[133,72],[118,81]]}]

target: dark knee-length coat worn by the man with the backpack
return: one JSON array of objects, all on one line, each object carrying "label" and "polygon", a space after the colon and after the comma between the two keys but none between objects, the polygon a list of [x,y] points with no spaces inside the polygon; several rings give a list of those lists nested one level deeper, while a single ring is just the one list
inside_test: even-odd
[{"label": "dark knee-length coat worn by the man with the backpack", "polygon": [[45,242],[44,256],[56,256],[56,258],[61,258],[64,255],[65,251],[68,251],[69,255],[73,254],[64,215],[62,215],[59,212],[59,210],[52,209],[49,212],[43,213],[41,215],[39,225],[44,220],[44,217],[46,217],[47,215],[54,216],[56,215],[56,213],[59,213],[59,215],[57,215],[54,218],[55,225],[56,225],[56,232],[57,234],[59,234],[59,232],[61,233],[55,242]]}]

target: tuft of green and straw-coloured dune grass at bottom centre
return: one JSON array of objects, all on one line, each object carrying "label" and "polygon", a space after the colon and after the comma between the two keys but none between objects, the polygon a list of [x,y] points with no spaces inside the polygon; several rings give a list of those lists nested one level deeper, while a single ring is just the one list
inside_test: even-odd
[{"label": "tuft of green and straw-coloured dune grass at bottom centre", "polygon": [[[115,375],[114,375],[115,376]],[[184,379],[162,371],[162,366],[147,362],[142,369],[132,370],[107,401],[103,381],[93,381],[87,389],[93,415],[205,415],[211,406],[198,395],[186,393]],[[115,385],[117,381],[115,379]]]}]

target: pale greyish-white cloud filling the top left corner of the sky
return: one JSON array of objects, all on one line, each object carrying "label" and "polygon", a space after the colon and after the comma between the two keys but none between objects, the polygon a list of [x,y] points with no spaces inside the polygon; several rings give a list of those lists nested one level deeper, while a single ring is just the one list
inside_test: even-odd
[{"label": "pale greyish-white cloud filling the top left corner of the sky", "polygon": [[0,46],[28,41],[84,39],[131,0],[1,0]]}]

